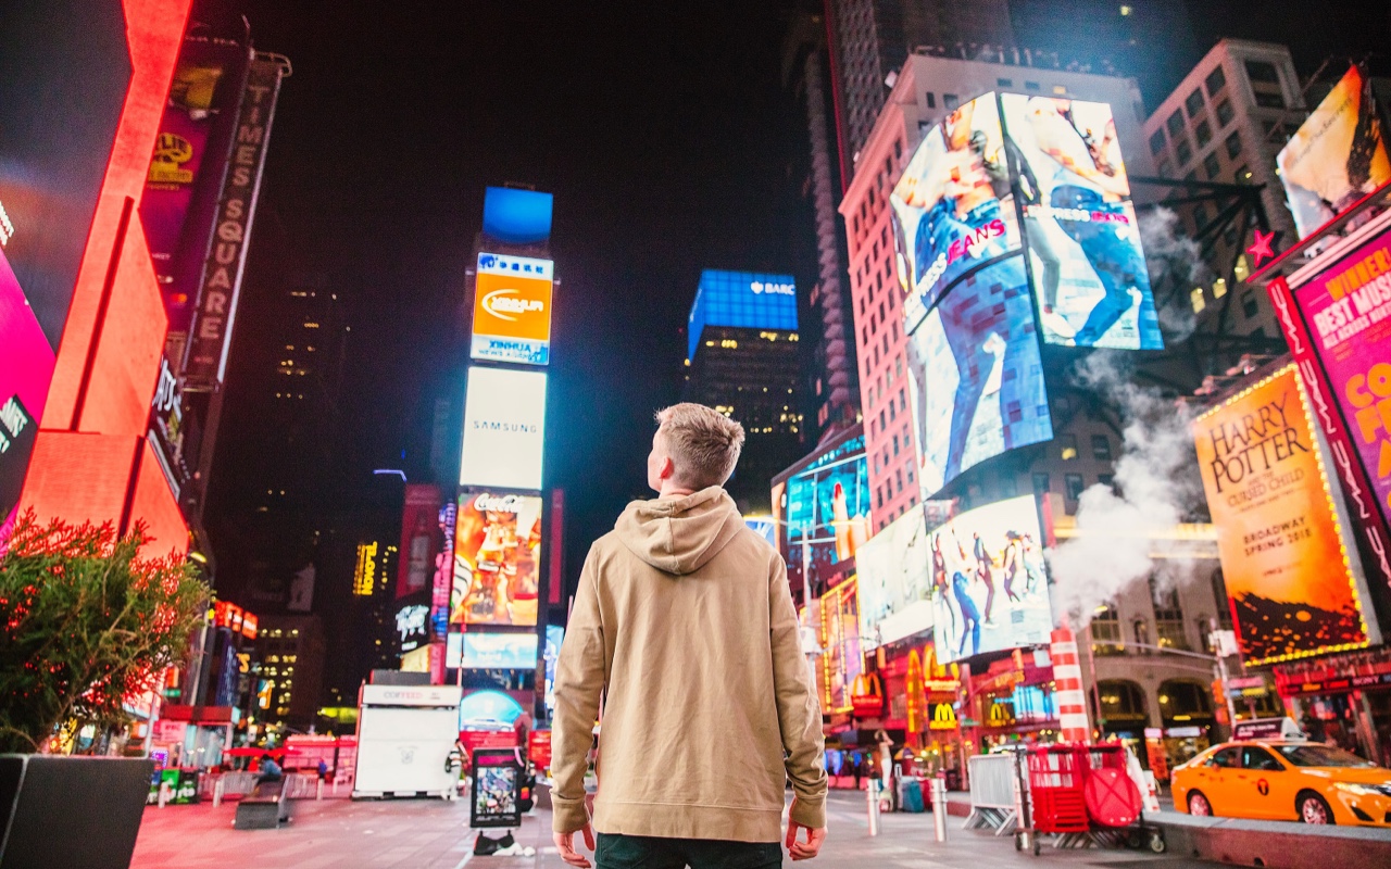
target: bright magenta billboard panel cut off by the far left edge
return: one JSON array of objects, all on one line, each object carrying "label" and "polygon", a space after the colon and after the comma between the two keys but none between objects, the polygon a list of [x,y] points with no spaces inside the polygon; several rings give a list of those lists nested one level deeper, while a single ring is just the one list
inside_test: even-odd
[{"label": "bright magenta billboard panel cut off by the far left edge", "polygon": [[0,250],[0,535],[14,521],[53,364],[53,348]]}]

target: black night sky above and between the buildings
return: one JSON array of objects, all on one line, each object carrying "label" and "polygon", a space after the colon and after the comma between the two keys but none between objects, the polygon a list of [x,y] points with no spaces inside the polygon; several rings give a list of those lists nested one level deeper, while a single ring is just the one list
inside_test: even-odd
[{"label": "black night sky above and between the buildings", "polygon": [[[256,47],[294,63],[249,273],[274,282],[323,271],[349,303],[345,480],[428,449],[484,186],[552,192],[562,286],[547,478],[566,489],[577,571],[588,541],[644,495],[651,414],[679,398],[700,270],[814,278],[791,171],[805,121],[780,83],[785,10],[796,6],[196,0],[195,18],[225,26],[245,14]],[[1035,18],[1097,7],[1021,6]],[[1184,68],[1221,35],[1285,42],[1303,74],[1328,51],[1391,35],[1387,4],[1189,8],[1198,54]],[[1142,82],[1152,104],[1167,85]],[[238,325],[238,342],[255,339],[255,311]]]}]

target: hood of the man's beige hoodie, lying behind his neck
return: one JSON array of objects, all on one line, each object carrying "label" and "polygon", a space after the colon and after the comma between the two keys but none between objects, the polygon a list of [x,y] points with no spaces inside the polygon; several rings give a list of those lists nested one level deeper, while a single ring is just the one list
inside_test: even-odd
[{"label": "hood of the man's beige hoodie, lying behind his neck", "polygon": [[633,555],[677,576],[700,570],[743,528],[734,499],[718,485],[680,498],[634,501],[613,526]]}]

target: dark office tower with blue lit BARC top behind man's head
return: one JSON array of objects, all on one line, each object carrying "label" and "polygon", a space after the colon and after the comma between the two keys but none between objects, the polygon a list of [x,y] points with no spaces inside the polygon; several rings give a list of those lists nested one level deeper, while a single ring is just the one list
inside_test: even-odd
[{"label": "dark office tower with blue lit BARC top behind man's head", "polygon": [[773,474],[803,453],[797,285],[791,275],[707,268],[689,330],[682,400],[744,425],[744,452],[726,488],[746,513],[766,513]]}]

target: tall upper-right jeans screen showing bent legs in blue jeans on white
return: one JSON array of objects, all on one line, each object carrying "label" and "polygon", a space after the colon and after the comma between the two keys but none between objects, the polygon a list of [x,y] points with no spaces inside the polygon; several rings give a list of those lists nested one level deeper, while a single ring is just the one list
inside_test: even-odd
[{"label": "tall upper-right jeans screen showing bent legs in blue jeans on white", "polygon": [[1043,341],[1163,349],[1111,107],[1021,93],[1000,107]]}]

